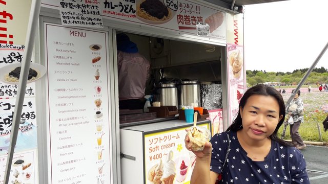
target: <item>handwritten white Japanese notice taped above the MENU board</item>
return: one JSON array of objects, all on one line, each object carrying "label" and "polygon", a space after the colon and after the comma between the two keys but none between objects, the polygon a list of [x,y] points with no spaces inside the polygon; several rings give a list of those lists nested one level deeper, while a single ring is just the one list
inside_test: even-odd
[{"label": "handwritten white Japanese notice taped above the MENU board", "polygon": [[59,2],[62,25],[104,28],[101,0],[61,0]]}]

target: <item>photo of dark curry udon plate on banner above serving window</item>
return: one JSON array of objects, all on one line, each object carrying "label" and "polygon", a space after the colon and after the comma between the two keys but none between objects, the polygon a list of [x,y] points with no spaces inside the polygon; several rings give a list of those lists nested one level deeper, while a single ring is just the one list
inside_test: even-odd
[{"label": "photo of dark curry udon plate on banner above serving window", "polygon": [[172,10],[160,0],[140,0],[137,3],[137,17],[148,23],[163,24],[171,20],[173,15]]}]

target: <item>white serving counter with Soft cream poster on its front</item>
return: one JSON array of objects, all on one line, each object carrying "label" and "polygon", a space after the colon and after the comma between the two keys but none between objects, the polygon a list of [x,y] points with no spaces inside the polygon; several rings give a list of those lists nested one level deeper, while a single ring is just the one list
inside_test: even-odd
[{"label": "white serving counter with Soft cream poster on its front", "polygon": [[[211,130],[210,120],[197,125]],[[170,177],[172,183],[188,183],[196,160],[194,153],[185,147],[185,129],[191,126],[192,123],[170,120],[121,127],[121,183],[154,183],[155,168],[172,163],[171,160],[175,164],[171,168],[175,171]]]}]

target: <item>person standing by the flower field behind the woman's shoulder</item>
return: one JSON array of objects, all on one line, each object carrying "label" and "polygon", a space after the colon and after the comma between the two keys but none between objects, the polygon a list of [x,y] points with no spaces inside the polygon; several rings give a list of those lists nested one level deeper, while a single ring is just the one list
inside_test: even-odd
[{"label": "person standing by the flower field behind the woman's shoulder", "polygon": [[[292,90],[292,93],[295,89]],[[290,124],[290,133],[292,137],[292,142],[295,144],[297,149],[306,148],[301,135],[298,132],[299,126],[303,123],[303,114],[304,114],[304,107],[302,99],[299,98],[301,95],[301,91],[298,90],[294,96],[294,99],[287,107],[286,111],[288,112],[289,116],[293,118],[294,124]]]}]

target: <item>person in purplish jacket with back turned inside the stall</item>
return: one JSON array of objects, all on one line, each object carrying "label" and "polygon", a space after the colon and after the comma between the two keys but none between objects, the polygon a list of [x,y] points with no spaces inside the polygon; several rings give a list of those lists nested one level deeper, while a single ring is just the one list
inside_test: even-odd
[{"label": "person in purplish jacket with back turned inside the stall", "polygon": [[128,35],[116,35],[119,109],[143,109],[149,61]]}]

